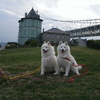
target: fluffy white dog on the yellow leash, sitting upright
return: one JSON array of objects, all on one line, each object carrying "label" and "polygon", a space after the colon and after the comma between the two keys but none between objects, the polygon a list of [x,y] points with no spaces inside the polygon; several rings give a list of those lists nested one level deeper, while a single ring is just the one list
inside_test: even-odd
[{"label": "fluffy white dog on the yellow leash, sitting upright", "polygon": [[50,71],[55,71],[55,75],[58,74],[57,57],[55,56],[54,48],[51,46],[50,42],[43,43],[41,47],[41,55],[41,75]]}]

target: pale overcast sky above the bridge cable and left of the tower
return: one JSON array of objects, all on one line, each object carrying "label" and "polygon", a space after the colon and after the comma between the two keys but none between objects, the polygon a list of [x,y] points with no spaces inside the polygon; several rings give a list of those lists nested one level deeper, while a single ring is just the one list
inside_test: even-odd
[{"label": "pale overcast sky above the bridge cable and left of the tower", "polygon": [[18,20],[32,7],[60,20],[100,18],[100,0],[0,0],[0,42],[17,42]]}]

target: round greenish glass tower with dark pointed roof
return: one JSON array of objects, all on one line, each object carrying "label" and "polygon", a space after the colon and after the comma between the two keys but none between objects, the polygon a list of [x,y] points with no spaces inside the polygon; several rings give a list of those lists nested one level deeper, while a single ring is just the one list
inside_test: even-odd
[{"label": "round greenish glass tower with dark pointed roof", "polygon": [[40,40],[42,21],[33,8],[25,13],[25,18],[19,20],[18,43],[24,45],[29,39]]}]

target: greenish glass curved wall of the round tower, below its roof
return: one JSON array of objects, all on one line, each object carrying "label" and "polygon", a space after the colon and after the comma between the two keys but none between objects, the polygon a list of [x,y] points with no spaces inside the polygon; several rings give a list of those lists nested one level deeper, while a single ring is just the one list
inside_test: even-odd
[{"label": "greenish glass curved wall of the round tower, below its roof", "polygon": [[24,45],[24,43],[30,39],[40,39],[41,33],[41,21],[37,19],[22,19],[19,22],[19,36],[18,43]]}]

